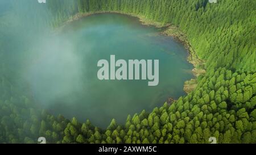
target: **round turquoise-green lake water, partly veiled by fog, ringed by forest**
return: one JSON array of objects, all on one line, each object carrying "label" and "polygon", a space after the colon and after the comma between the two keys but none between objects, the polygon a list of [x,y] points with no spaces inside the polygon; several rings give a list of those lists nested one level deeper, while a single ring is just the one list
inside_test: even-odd
[{"label": "round turquoise-green lake water, partly veiled by fog, ringed by forest", "polygon": [[[185,95],[184,82],[193,78],[183,44],[128,15],[86,16],[42,42],[36,47],[42,52],[33,56],[27,71],[35,99],[52,114],[89,119],[98,127],[107,127],[112,118],[125,123],[129,114],[150,112],[170,97]],[[116,60],[159,60],[159,85],[100,81],[97,62],[110,61],[110,55]]]}]

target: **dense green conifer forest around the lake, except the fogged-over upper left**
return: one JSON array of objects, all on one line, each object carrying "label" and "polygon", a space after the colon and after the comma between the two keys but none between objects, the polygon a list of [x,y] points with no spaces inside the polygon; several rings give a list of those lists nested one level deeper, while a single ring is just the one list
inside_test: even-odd
[{"label": "dense green conifer forest around the lake, except the fogged-over upper left", "polygon": [[2,63],[1,143],[37,143],[40,136],[47,143],[209,143],[212,136],[217,143],[256,143],[256,1],[48,0],[47,7],[53,28],[77,14],[98,11],[176,26],[204,60],[197,67],[207,72],[196,78],[195,90],[171,105],[129,115],[125,124],[113,119],[101,129],[89,120],[56,118],[37,108]]}]

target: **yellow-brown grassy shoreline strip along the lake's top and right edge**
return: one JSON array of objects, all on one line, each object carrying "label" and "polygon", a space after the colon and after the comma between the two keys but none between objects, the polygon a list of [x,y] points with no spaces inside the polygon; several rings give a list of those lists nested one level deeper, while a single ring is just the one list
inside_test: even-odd
[{"label": "yellow-brown grassy shoreline strip along the lake's top and right edge", "polygon": [[104,13],[115,13],[115,14],[130,15],[130,16],[138,18],[139,21],[141,22],[141,24],[143,24],[145,26],[155,26],[156,28],[165,28],[166,30],[161,32],[162,35],[171,36],[175,40],[182,43],[184,45],[185,49],[187,49],[187,51],[188,51],[187,61],[190,64],[192,64],[193,67],[194,67],[192,69],[192,74],[193,74],[193,76],[195,76],[195,78],[192,78],[188,81],[185,81],[183,90],[185,91],[185,93],[189,94],[191,91],[196,89],[196,86],[197,86],[196,78],[198,76],[202,75],[202,74],[205,74],[205,72],[206,72],[206,70],[204,69],[204,61],[201,60],[196,55],[196,52],[193,50],[191,44],[189,43],[189,41],[187,39],[187,36],[183,32],[181,32],[178,27],[172,26],[171,24],[162,24],[160,22],[155,22],[153,20],[148,20],[148,19],[146,19],[145,16],[136,15],[136,14],[129,14],[129,13],[126,13],[126,12],[96,11],[96,12],[86,12],[86,13],[83,13],[83,14],[80,14],[80,13],[76,14],[76,15],[72,16],[70,19],[68,19],[66,22],[64,22],[62,24],[62,26],[60,26],[58,28],[58,30],[61,30],[61,28],[65,27],[68,23],[74,22],[75,20],[79,20],[79,19],[84,18],[84,17],[89,16],[89,15],[104,14]]}]

